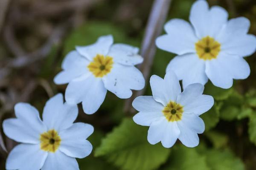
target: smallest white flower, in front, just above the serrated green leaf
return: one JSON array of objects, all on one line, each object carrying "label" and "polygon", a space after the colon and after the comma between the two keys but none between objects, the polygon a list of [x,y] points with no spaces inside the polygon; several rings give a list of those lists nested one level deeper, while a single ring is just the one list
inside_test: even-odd
[{"label": "smallest white flower, in front, just above the serrated green leaf", "polygon": [[153,96],[139,96],[132,103],[139,111],[134,122],[149,126],[148,142],[161,141],[169,148],[179,139],[187,147],[197,146],[198,133],[204,132],[204,121],[199,116],[214,104],[212,96],[203,95],[204,86],[199,83],[188,85],[181,93],[172,71],[164,79],[151,76],[150,85]]}]

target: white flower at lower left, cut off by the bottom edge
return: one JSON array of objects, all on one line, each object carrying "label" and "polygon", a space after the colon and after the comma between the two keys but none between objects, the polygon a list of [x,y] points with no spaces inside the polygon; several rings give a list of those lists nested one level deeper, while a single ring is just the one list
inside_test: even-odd
[{"label": "white flower at lower left, cut off by the bottom edge", "polygon": [[6,136],[21,142],[9,153],[7,170],[79,170],[76,158],[92,151],[86,138],[93,133],[93,126],[73,123],[77,105],[63,103],[62,94],[46,103],[43,121],[28,103],[17,103],[15,115],[17,118],[3,122]]}]

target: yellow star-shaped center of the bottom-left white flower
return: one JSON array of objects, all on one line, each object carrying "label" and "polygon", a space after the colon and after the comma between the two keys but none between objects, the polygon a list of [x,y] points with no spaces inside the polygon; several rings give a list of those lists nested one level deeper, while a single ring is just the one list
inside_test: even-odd
[{"label": "yellow star-shaped center of the bottom-left white flower", "polygon": [[41,150],[55,152],[61,144],[61,137],[54,129],[40,135]]}]

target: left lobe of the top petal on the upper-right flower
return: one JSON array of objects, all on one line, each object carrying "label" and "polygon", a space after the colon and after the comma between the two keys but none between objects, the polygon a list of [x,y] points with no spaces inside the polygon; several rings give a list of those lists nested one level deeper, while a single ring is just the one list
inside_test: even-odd
[{"label": "left lobe of the top petal on the upper-right flower", "polygon": [[205,0],[197,0],[190,10],[189,20],[195,28],[198,38],[209,34],[209,6]]}]

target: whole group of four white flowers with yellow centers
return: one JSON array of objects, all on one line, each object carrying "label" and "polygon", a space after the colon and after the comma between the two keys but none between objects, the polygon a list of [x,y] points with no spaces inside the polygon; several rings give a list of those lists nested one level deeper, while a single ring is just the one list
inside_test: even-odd
[{"label": "whole group of four white flowers with yellow centers", "polygon": [[[249,20],[228,20],[227,11],[219,6],[209,8],[206,0],[193,4],[189,20],[192,24],[180,19],[166,23],[167,34],[158,37],[156,45],[177,57],[169,63],[164,79],[150,78],[152,96],[139,96],[132,103],[139,111],[134,122],[149,126],[150,144],[161,142],[169,148],[179,139],[187,147],[197,146],[198,133],[205,128],[199,116],[214,104],[212,96],[203,94],[205,83],[210,79],[215,86],[230,88],[233,79],[250,74],[243,58],[256,50],[256,37],[247,34]],[[91,153],[92,145],[86,139],[93,126],[73,123],[77,104],[81,102],[84,112],[93,114],[107,90],[127,99],[131,90],[143,89],[143,74],[134,66],[143,62],[138,52],[130,45],[113,44],[113,37],[107,35],[67,54],[63,71],[54,78],[56,84],[68,83],[66,102],[62,94],[49,99],[42,120],[33,106],[18,103],[17,118],[3,122],[6,136],[21,143],[9,153],[6,169],[79,170],[75,158]]]}]

